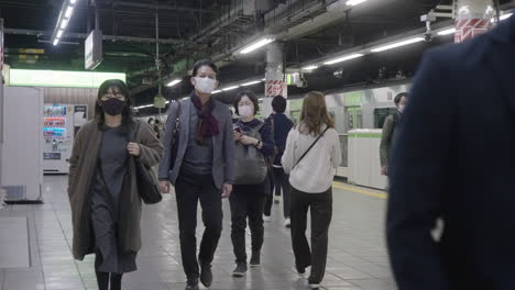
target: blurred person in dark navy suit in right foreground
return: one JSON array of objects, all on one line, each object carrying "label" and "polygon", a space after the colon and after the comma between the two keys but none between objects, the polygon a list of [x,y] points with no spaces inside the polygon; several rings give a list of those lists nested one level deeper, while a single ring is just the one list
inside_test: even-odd
[{"label": "blurred person in dark navy suit in right foreground", "polygon": [[514,68],[514,16],[426,54],[391,163],[387,244],[401,290],[515,289]]}]

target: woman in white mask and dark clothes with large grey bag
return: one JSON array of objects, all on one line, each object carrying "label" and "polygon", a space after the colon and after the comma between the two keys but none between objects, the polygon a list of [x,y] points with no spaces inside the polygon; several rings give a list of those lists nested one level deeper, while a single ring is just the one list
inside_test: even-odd
[{"label": "woman in white mask and dark clothes with large grey bag", "polygon": [[265,158],[274,153],[274,140],[270,123],[255,119],[258,98],[252,91],[238,93],[234,101],[240,120],[234,124],[234,190],[229,198],[231,204],[231,238],[237,267],[234,277],[243,277],[248,270],[245,252],[245,227],[252,233],[251,267],[261,265],[263,245],[263,211],[267,180]]}]

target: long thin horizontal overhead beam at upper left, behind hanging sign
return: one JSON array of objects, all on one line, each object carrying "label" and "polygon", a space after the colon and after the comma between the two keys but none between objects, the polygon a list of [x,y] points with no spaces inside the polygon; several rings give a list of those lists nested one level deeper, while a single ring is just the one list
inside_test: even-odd
[{"label": "long thin horizontal overhead beam at upper left, behind hanging sign", "polygon": [[[51,37],[53,32],[48,31],[36,31],[36,30],[18,30],[18,29],[4,29],[6,34],[15,34],[15,35],[33,35],[33,36],[47,36]],[[88,35],[86,33],[64,33],[62,38],[80,38],[86,40]],[[133,42],[133,43],[156,43],[155,38],[150,37],[134,37],[134,36],[114,36],[114,35],[103,35],[105,41],[112,42]],[[160,44],[179,44],[183,41],[168,38],[168,40],[158,40]]]}]

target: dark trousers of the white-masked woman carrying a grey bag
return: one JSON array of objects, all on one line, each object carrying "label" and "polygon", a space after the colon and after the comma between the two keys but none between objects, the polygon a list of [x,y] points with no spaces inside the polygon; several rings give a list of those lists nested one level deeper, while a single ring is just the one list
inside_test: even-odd
[{"label": "dark trousers of the white-masked woman carrying a grey bag", "polygon": [[263,246],[263,208],[265,198],[264,185],[234,186],[232,194],[229,198],[232,220],[231,239],[237,263],[246,263],[246,217],[249,217],[249,227],[251,230],[252,252],[259,252]]}]

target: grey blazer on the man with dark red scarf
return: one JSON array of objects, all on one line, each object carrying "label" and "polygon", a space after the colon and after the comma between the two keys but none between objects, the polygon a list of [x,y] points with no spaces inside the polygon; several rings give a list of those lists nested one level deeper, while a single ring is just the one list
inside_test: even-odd
[{"label": "grey blazer on the man with dark red scarf", "polygon": [[[177,158],[175,165],[171,165],[171,149],[172,149],[172,134],[175,129],[175,120],[177,119],[178,103],[173,103],[168,109],[168,120],[166,121],[165,136],[163,144],[165,154],[160,165],[160,180],[169,180],[175,185],[179,175],[180,166],[183,164],[184,155],[188,146],[189,130],[189,115],[193,102],[190,99],[180,101],[180,131],[179,144],[177,149]],[[219,189],[223,183],[233,183],[233,167],[234,167],[234,142],[232,135],[232,119],[229,108],[218,101],[215,101],[215,109],[212,115],[218,121],[220,134],[212,137],[213,144],[213,160],[212,160],[212,178],[215,186]]]}]

